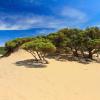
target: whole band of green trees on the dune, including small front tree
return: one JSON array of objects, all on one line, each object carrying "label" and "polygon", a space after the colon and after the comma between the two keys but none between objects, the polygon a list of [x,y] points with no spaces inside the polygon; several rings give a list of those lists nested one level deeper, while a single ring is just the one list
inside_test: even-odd
[{"label": "whole band of green trees on the dune, including small front tree", "polygon": [[45,57],[50,53],[93,59],[93,55],[100,52],[100,28],[65,28],[47,36],[17,38],[5,44],[5,55],[10,55],[19,48],[31,53],[36,61],[45,63]]}]

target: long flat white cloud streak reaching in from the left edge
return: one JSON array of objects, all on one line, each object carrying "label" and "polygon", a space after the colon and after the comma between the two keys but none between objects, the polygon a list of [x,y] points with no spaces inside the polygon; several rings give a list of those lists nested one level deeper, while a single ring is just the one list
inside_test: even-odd
[{"label": "long flat white cloud streak reaching in from the left edge", "polygon": [[62,22],[52,16],[17,15],[5,16],[0,19],[0,23],[0,30],[25,30],[30,28],[58,28]]}]

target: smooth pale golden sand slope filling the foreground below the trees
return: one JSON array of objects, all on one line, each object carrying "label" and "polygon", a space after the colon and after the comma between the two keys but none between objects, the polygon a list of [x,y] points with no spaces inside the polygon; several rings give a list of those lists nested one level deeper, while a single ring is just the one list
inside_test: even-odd
[{"label": "smooth pale golden sand slope filling the foreground below the trees", "polygon": [[15,64],[20,50],[0,59],[0,100],[100,100],[100,65],[50,60],[43,68]]}]

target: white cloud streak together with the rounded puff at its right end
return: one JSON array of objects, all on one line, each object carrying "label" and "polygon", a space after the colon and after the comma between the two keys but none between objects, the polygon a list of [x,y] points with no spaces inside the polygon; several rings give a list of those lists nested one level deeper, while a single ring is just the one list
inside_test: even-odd
[{"label": "white cloud streak together with the rounded puff at its right end", "polygon": [[0,30],[27,30],[31,28],[65,28],[76,27],[87,21],[82,11],[64,7],[58,17],[46,15],[1,15]]}]

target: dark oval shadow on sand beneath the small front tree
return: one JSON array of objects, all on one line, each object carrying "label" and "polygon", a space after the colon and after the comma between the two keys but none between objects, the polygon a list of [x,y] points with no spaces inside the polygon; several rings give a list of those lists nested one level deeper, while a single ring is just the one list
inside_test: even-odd
[{"label": "dark oval shadow on sand beneath the small front tree", "polygon": [[17,66],[25,66],[26,68],[45,68],[45,64],[34,61],[33,59],[18,61],[15,63]]}]

